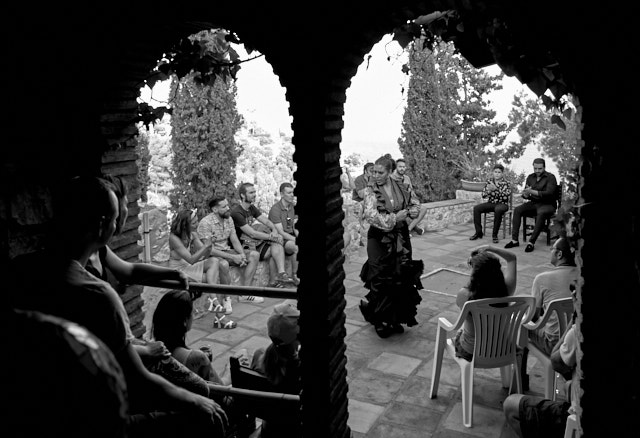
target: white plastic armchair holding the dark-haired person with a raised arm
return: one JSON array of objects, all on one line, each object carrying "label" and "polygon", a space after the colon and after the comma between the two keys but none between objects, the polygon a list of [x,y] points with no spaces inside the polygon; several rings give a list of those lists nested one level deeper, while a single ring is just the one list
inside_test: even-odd
[{"label": "white plastic armchair holding the dark-haired person with a raised arm", "polygon": [[[494,307],[506,303],[505,307]],[[458,320],[451,324],[446,318],[438,319],[436,352],[433,358],[430,397],[438,393],[440,371],[445,347],[460,366],[462,380],[462,421],[466,427],[473,423],[473,374],[475,368],[500,368],[503,387],[512,387],[516,376],[517,392],[522,393],[519,358],[516,355],[518,335],[523,323],[533,317],[535,299],[531,296],[486,298],[467,301]],[[471,362],[456,357],[453,337],[471,314],[475,328],[475,344]],[[513,367],[513,372],[511,372]]]}]

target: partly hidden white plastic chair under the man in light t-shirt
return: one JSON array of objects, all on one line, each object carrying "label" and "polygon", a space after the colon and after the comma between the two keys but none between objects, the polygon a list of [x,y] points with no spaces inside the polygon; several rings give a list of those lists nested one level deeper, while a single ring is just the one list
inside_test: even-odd
[{"label": "partly hidden white plastic chair under the man in light t-shirt", "polygon": [[[529,349],[529,352],[538,359],[540,365],[544,369],[545,382],[544,382],[544,398],[549,400],[556,399],[556,382],[558,378],[558,373],[555,372],[553,366],[551,365],[551,358],[547,356],[543,351],[538,349],[535,345],[528,342],[529,336],[527,331],[538,330],[540,327],[544,327],[549,318],[553,314],[557,315],[558,318],[558,329],[560,336],[564,334],[567,330],[567,327],[571,324],[571,319],[573,317],[573,298],[559,298],[557,300],[553,300],[549,303],[547,310],[542,315],[542,318],[537,320],[536,322],[528,322],[523,324],[523,327],[526,329],[521,334],[522,340],[520,340],[520,345],[524,345]],[[526,364],[525,364],[526,365]]]}]

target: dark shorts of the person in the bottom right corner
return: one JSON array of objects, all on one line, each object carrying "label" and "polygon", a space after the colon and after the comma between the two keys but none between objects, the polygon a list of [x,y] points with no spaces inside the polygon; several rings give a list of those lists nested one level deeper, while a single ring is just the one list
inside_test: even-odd
[{"label": "dark shorts of the person in the bottom right corner", "polygon": [[561,437],[571,403],[525,395],[520,399],[520,430],[527,437]]}]

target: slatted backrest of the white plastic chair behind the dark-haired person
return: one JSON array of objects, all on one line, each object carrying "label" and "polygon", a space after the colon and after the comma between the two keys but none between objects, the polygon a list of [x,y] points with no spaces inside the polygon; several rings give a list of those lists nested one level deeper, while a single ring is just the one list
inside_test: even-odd
[{"label": "slatted backrest of the white plastic chair behind the dark-haired person", "polygon": [[534,306],[535,299],[530,296],[485,298],[464,304],[462,311],[469,310],[475,328],[474,367],[497,368],[514,362],[520,326],[531,320]]}]

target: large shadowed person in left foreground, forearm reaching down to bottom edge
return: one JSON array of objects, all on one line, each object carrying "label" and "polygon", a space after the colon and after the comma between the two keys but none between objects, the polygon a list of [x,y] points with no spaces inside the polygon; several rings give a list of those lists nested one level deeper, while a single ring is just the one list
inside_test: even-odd
[{"label": "large shadowed person in left foreground, forearm reaching down to bottom edge", "polygon": [[[31,307],[86,327],[113,352],[128,393],[127,436],[178,436],[185,431],[222,437],[224,410],[210,398],[192,393],[149,372],[133,348],[127,312],[113,287],[85,269],[88,258],[116,229],[118,199],[103,179],[77,177],[54,197],[54,228],[47,263],[37,283],[21,276],[17,289]],[[82,205],[82,211],[78,211]],[[102,427],[96,425],[96,427]]]}]

